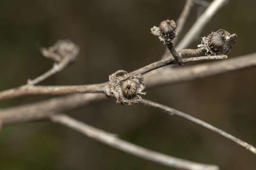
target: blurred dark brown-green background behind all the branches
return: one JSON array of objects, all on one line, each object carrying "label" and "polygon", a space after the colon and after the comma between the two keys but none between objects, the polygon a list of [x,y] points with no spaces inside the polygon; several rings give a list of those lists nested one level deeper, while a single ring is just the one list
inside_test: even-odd
[{"label": "blurred dark brown-green background behind all the branches", "polygon": [[[70,39],[79,59],[41,85],[101,83],[118,69],[132,71],[161,58],[165,46],[150,28],[176,20],[185,0],[1,0],[0,90],[26,84],[52,67],[38,47]],[[255,0],[230,0],[201,36],[224,28],[238,34],[229,58],[255,52]],[[197,19],[194,5],[181,36]],[[196,48],[200,37],[190,48]],[[193,63],[197,64],[197,63]],[[184,66],[186,67],[186,66]],[[170,75],[171,76],[171,75]],[[256,145],[256,68],[147,91],[155,100],[217,126]],[[0,108],[41,101],[27,96],[0,102]],[[255,170],[256,157],[237,144],[186,120],[114,100],[68,112],[89,125],[146,148],[221,170]],[[0,170],[172,170],[110,148],[48,121],[4,127]]]}]

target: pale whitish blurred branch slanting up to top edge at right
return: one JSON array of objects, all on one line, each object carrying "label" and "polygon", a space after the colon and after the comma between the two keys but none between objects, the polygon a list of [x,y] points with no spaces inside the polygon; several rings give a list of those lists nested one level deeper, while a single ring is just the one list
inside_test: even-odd
[{"label": "pale whitish blurred branch slanting up to top edge at right", "polygon": [[205,12],[198,18],[191,29],[185,34],[181,42],[176,47],[177,50],[186,48],[198,35],[204,26],[210,21],[211,17],[221,8],[228,0],[214,0]]}]

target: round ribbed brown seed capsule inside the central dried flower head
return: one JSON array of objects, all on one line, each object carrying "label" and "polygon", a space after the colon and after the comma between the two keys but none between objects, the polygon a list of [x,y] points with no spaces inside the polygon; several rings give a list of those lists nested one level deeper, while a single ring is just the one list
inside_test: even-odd
[{"label": "round ribbed brown seed capsule inside the central dried flower head", "polygon": [[126,98],[131,98],[136,95],[137,93],[137,83],[133,82],[132,80],[125,80],[122,83],[122,92]]}]

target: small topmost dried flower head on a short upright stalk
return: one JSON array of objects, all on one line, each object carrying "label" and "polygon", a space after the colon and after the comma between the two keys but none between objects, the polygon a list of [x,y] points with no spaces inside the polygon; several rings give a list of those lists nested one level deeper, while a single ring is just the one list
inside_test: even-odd
[{"label": "small topmost dried flower head on a short upright stalk", "polygon": [[174,20],[169,19],[162,21],[159,27],[153,26],[153,28],[151,28],[151,33],[158,36],[160,41],[163,41],[164,44],[172,42],[178,34],[176,30],[176,23]]}]

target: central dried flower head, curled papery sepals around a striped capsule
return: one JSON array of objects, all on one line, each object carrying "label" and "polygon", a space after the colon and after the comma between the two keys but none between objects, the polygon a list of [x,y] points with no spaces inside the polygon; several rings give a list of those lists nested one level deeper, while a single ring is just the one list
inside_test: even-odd
[{"label": "central dried flower head, curled papery sepals around a striped capsule", "polygon": [[117,104],[132,106],[141,101],[145,89],[144,78],[140,74],[128,75],[124,70],[118,70],[109,77],[110,95],[117,99]]}]

